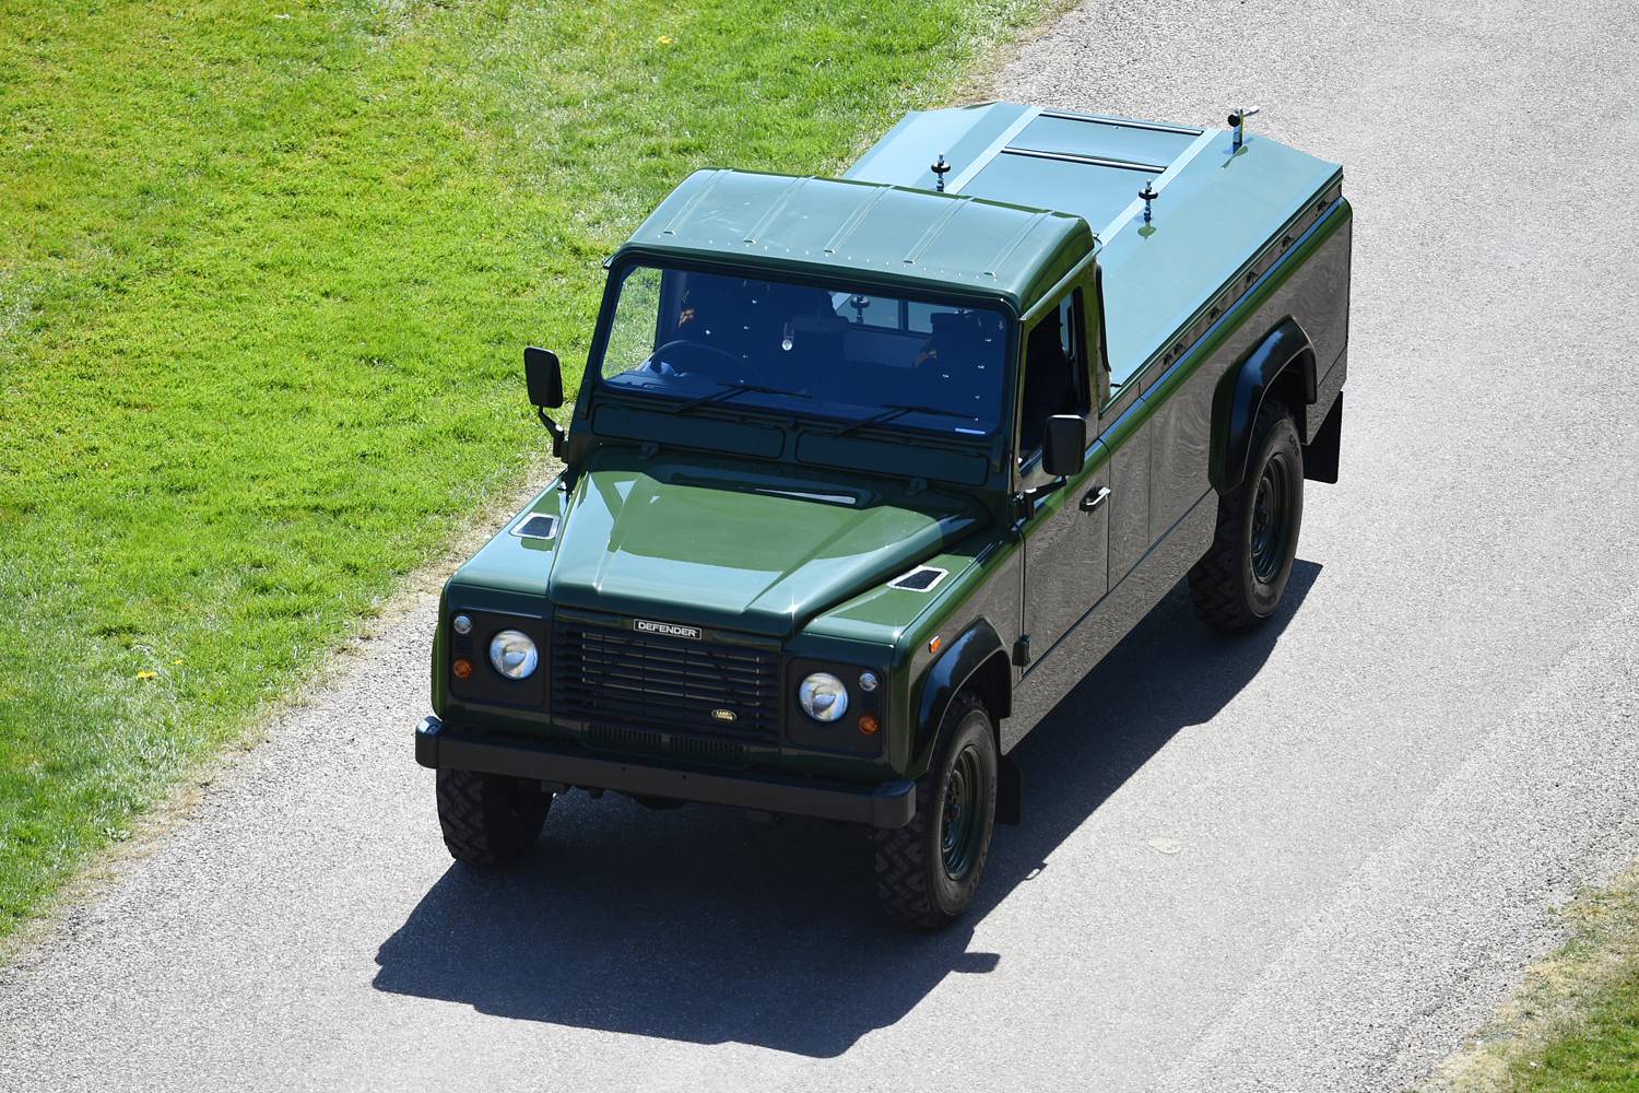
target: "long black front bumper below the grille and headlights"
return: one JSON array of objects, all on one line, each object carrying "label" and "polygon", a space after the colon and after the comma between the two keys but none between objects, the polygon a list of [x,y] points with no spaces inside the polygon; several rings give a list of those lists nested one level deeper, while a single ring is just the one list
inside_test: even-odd
[{"label": "long black front bumper below the grille and headlights", "polygon": [[505,773],[616,793],[844,819],[872,828],[903,828],[916,814],[915,782],[849,785],[790,775],[677,770],[588,755],[546,741],[467,736],[451,731],[438,718],[423,718],[416,726],[415,760],[434,770]]}]

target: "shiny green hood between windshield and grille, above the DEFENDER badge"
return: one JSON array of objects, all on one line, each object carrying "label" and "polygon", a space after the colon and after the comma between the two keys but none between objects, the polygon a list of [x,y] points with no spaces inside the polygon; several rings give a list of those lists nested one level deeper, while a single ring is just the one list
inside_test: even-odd
[{"label": "shiny green hood between windshield and grille, above the DEFENDER badge", "polygon": [[683,462],[603,465],[574,493],[547,582],[554,605],[779,636],[982,519],[960,497],[890,501]]}]

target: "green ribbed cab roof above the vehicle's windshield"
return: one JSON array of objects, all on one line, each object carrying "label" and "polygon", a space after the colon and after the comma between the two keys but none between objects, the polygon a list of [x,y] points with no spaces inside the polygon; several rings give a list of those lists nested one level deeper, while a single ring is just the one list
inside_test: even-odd
[{"label": "green ribbed cab roof above the vehicle's windshield", "polygon": [[1093,249],[1080,216],[856,179],[698,170],[618,252],[997,297],[1024,313]]}]

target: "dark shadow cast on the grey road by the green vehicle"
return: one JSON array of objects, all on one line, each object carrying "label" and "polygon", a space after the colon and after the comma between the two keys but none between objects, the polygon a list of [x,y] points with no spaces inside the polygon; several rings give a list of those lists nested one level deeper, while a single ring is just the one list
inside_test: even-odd
[{"label": "dark shadow cast on the grey road by the green vehicle", "polygon": [[1319,572],[1300,560],[1280,613],[1234,639],[1200,628],[1174,588],[1013,752],[1024,823],[998,829],[980,903],[954,929],[885,923],[857,829],[572,793],[520,867],[452,865],[382,944],[375,988],[515,1019],[839,1055],[947,975],[1005,959],[969,952],[974,926],[1174,734],[1246,687]]}]

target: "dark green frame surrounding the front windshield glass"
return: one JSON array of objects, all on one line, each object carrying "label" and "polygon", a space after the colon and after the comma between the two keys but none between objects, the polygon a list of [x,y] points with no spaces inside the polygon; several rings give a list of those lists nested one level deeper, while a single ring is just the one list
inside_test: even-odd
[{"label": "dark green frame surrounding the front windshield glass", "polygon": [[[615,311],[620,303],[621,290],[626,285],[626,279],[636,269],[656,269],[661,272],[677,270],[685,274],[715,274],[729,277],[759,277],[769,282],[801,285],[811,288],[821,288],[824,292],[864,292],[875,295],[892,295],[895,300],[906,300],[913,303],[929,303],[942,306],[983,306],[993,310],[1001,316],[1003,321],[1003,347],[1001,347],[1001,403],[997,408],[997,421],[993,426],[978,433],[970,434],[954,433],[949,429],[936,429],[931,426],[918,426],[905,423],[901,418],[893,418],[888,421],[860,426],[860,423],[870,418],[877,410],[883,406],[865,406],[860,405],[864,413],[860,415],[826,415],[813,413],[800,406],[762,406],[756,401],[746,401],[739,398],[721,398],[710,400],[703,405],[690,410],[688,416],[706,418],[710,415],[726,413],[731,416],[756,416],[772,423],[788,423],[795,431],[813,431],[813,433],[839,433],[842,429],[851,429],[849,436],[867,436],[870,433],[898,433],[913,434],[918,442],[926,441],[939,446],[960,446],[965,449],[1006,449],[1013,442],[1013,431],[1016,426],[1016,387],[1018,387],[1018,359],[1019,359],[1019,316],[1015,311],[1011,302],[1000,293],[985,293],[975,290],[964,290],[962,287],[928,287],[915,283],[906,279],[898,277],[872,277],[869,270],[864,277],[859,275],[860,270],[839,270],[841,274],[854,274],[852,277],[838,277],[826,272],[811,272],[797,265],[788,265],[780,261],[759,262],[759,261],[710,261],[710,259],[680,259],[672,254],[661,254],[647,249],[624,249],[615,254],[606,262],[608,279],[603,287],[603,300],[598,306],[597,328],[593,331],[592,344],[587,349],[587,367],[585,380],[582,383],[582,393],[590,397],[587,405],[587,416],[592,416],[593,403],[610,398],[620,401],[624,406],[647,408],[657,413],[675,411],[687,401],[695,401],[695,397],[672,395],[664,392],[636,392],[631,387],[620,383],[611,383],[608,377],[603,375],[603,357],[608,349],[610,334],[615,324]],[[723,390],[729,390],[724,387]],[[852,428],[851,428],[852,426]]]}]

